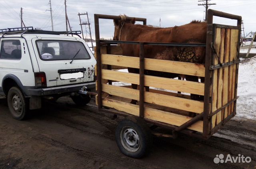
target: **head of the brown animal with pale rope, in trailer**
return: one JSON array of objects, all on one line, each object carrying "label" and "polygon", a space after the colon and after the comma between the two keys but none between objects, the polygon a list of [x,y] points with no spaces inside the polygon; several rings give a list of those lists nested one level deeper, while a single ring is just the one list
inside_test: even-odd
[{"label": "head of the brown animal with pale rope, in trailer", "polygon": [[126,20],[126,15],[120,15],[121,19],[120,20],[114,20],[114,26],[115,26],[115,31],[114,31],[114,41],[119,41],[121,37],[121,32],[122,28],[126,23],[134,24],[135,23],[135,18],[132,20]]}]

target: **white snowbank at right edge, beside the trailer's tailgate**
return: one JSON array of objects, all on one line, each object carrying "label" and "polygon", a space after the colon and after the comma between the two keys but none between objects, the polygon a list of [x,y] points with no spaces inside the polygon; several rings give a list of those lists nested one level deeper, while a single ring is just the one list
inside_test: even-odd
[{"label": "white snowbank at right edge, beside the trailer's tailgate", "polygon": [[236,116],[256,120],[256,56],[239,64]]}]

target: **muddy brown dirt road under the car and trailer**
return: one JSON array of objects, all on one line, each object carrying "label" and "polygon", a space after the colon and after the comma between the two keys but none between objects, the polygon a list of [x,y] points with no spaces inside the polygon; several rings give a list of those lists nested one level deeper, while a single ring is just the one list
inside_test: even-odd
[{"label": "muddy brown dirt road under the car and trailer", "polygon": [[[231,120],[209,140],[180,135],[154,138],[147,157],[120,153],[111,114],[91,106],[78,108],[68,97],[44,104],[26,121],[14,120],[5,98],[0,99],[0,169],[256,169],[256,122]],[[217,154],[238,154],[250,163],[214,163]]]}]

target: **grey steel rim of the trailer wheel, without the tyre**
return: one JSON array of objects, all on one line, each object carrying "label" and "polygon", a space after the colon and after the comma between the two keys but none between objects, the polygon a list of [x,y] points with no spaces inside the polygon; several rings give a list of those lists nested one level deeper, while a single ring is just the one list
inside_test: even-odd
[{"label": "grey steel rim of the trailer wheel, without the tyre", "polygon": [[136,152],[140,148],[140,136],[132,127],[124,127],[120,133],[123,147],[130,151]]}]

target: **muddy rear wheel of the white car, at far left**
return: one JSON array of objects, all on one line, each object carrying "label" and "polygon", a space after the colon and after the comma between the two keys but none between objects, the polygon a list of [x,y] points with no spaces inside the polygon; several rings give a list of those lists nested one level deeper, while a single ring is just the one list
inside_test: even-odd
[{"label": "muddy rear wheel of the white car, at far left", "polygon": [[16,120],[24,120],[28,116],[28,100],[18,87],[12,87],[8,91],[7,102],[10,113]]}]

